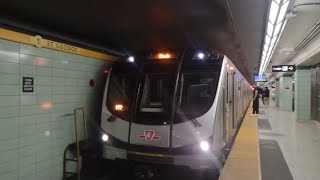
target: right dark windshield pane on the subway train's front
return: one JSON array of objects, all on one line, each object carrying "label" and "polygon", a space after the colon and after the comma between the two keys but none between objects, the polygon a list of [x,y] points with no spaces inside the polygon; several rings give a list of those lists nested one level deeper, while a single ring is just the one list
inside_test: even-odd
[{"label": "right dark windshield pane on the subway train's front", "polygon": [[183,73],[180,85],[177,121],[200,117],[213,104],[218,78],[216,73]]}]

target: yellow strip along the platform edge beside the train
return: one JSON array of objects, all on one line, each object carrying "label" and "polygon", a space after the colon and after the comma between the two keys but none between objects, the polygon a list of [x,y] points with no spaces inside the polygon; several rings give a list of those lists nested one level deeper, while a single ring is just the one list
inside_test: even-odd
[{"label": "yellow strip along the platform edge beside the train", "polygon": [[252,102],[219,180],[261,180],[258,121],[251,113]]}]

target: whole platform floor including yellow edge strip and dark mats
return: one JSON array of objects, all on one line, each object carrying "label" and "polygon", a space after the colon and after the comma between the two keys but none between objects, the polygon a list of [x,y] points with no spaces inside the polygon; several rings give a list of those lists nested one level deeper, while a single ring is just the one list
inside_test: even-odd
[{"label": "whole platform floor including yellow edge strip and dark mats", "polygon": [[260,102],[248,108],[219,180],[320,179],[320,124]]}]

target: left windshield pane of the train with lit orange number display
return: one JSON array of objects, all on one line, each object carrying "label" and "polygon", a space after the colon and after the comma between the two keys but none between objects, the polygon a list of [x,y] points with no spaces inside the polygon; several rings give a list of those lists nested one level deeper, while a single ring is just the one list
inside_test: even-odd
[{"label": "left windshield pane of the train with lit orange number display", "polygon": [[132,63],[117,62],[112,66],[107,107],[112,114],[128,120],[134,104],[138,82],[138,68]]}]

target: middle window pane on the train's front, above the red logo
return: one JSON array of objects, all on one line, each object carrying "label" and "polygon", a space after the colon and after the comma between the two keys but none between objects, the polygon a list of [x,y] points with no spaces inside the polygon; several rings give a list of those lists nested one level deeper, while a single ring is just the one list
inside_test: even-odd
[{"label": "middle window pane on the train's front, above the red logo", "polygon": [[164,124],[170,121],[176,79],[176,64],[146,64],[136,107],[136,122]]}]

